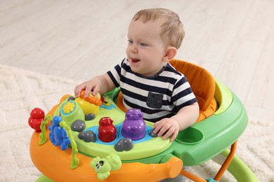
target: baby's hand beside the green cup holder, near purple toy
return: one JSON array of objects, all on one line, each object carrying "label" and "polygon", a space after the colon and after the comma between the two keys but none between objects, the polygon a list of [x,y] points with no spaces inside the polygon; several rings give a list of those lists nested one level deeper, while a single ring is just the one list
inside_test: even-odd
[{"label": "baby's hand beside the green cup holder, near purple toy", "polygon": [[179,124],[173,118],[164,118],[156,122],[153,129],[153,132],[157,134],[158,137],[167,139],[172,135],[170,141],[174,141],[179,132]]}]

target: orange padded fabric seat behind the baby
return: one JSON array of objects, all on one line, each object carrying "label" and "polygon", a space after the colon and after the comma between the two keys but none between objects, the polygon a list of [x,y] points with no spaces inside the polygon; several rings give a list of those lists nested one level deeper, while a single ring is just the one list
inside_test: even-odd
[{"label": "orange padded fabric seat behind the baby", "polygon": [[[188,78],[188,82],[198,100],[200,116],[196,123],[213,115],[218,106],[214,98],[215,80],[211,73],[201,66],[178,59],[172,59],[169,63]],[[117,99],[117,106],[126,112],[122,99],[123,95],[122,92],[120,92]]]}]

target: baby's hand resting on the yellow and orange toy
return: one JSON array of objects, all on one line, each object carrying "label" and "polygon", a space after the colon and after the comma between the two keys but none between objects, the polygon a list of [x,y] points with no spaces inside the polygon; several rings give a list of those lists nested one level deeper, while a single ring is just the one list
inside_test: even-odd
[{"label": "baby's hand resting on the yellow and orange toy", "polygon": [[74,88],[75,97],[80,97],[81,90],[85,90],[84,97],[89,97],[90,92],[92,92],[93,95],[96,95],[100,90],[100,84],[96,80],[91,79],[89,81],[81,83],[80,85],[77,85]]}]

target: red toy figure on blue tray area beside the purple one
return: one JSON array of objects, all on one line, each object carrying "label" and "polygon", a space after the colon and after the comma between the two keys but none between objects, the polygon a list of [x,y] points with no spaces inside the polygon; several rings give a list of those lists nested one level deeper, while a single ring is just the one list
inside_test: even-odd
[{"label": "red toy figure on blue tray area beside the purple one", "polygon": [[116,139],[116,127],[112,124],[110,117],[100,118],[98,128],[98,138],[100,141],[110,142]]}]

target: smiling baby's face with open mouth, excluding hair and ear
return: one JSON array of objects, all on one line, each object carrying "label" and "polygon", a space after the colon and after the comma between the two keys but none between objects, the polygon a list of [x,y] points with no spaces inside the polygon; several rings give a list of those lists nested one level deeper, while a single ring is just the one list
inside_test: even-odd
[{"label": "smiling baby's face with open mouth, excluding hair and ear", "polygon": [[141,20],[131,21],[128,38],[126,56],[132,71],[143,76],[154,76],[167,64],[163,61],[165,46],[160,37],[157,21],[146,23]]}]

